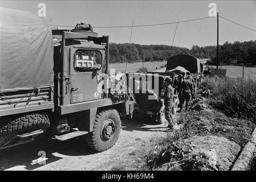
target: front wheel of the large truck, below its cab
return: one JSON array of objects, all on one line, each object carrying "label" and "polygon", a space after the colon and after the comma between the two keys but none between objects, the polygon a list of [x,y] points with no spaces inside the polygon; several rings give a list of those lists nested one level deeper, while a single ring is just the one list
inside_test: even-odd
[{"label": "front wheel of the large truck, below its cab", "polygon": [[88,145],[97,152],[111,148],[119,137],[121,119],[115,109],[103,110],[96,115],[93,131],[85,136]]}]

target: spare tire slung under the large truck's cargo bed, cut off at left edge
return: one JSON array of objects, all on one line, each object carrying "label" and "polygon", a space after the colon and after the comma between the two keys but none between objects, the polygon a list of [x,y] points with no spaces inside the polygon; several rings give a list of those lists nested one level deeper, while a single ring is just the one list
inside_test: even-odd
[{"label": "spare tire slung under the large truck's cargo bed, cut off at left edge", "polygon": [[26,115],[16,115],[0,118],[0,147],[8,140],[18,134],[24,134],[33,130],[46,130],[50,125],[46,113],[28,113]]}]

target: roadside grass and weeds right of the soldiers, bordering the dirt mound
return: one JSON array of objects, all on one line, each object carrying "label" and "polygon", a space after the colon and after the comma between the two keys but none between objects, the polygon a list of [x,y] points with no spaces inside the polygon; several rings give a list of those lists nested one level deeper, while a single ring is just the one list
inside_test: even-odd
[{"label": "roadside grass and weeds right of the soldiers, bordering the dirt mound", "polygon": [[[181,113],[178,123],[183,123],[183,128],[166,138],[158,138],[158,144],[145,153],[147,163],[144,168],[154,168],[155,162],[162,158],[166,148],[187,138],[209,135],[224,137],[240,147],[250,140],[251,131],[255,127],[251,119],[256,114],[256,81],[213,77],[206,78],[200,89],[209,89],[210,97],[197,97],[190,110]],[[206,105],[208,109],[195,110],[199,104]],[[169,158],[165,160],[169,161]]]}]

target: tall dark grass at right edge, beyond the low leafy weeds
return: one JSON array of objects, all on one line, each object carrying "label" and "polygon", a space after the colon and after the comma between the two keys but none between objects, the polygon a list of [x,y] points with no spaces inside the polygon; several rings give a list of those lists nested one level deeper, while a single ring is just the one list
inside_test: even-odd
[{"label": "tall dark grass at right edge, beyond the low leafy weeds", "polygon": [[[234,117],[256,117],[256,81],[242,78],[205,78],[200,88],[209,89],[215,104]],[[256,118],[255,118],[256,119]]]}]

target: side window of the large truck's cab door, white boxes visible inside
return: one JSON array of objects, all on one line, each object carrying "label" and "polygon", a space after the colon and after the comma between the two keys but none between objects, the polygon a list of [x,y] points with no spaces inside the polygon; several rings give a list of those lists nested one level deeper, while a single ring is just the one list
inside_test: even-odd
[{"label": "side window of the large truck's cab door, white boxes visible inside", "polygon": [[77,72],[99,70],[101,64],[100,51],[78,49],[74,54],[74,68]]}]

